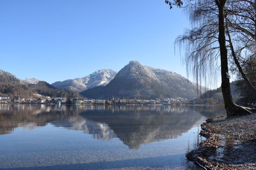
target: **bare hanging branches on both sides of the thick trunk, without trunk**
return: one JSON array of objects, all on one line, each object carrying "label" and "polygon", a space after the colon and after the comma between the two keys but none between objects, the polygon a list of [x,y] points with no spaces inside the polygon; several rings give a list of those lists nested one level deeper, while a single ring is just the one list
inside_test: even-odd
[{"label": "bare hanging branches on both sides of the thick trunk, without trunk", "polygon": [[[177,38],[179,43],[188,43],[186,50],[189,52],[186,55],[186,60],[188,61],[188,66],[193,67],[195,72],[205,72],[206,68],[211,68],[214,66],[214,61],[218,60],[220,56],[219,46],[218,46],[218,8],[214,1],[193,1],[187,0],[186,8],[189,14],[189,19],[193,24],[193,30],[185,32],[184,35]],[[228,0],[228,4],[225,7],[225,19],[226,19],[226,29],[229,29],[230,35],[234,38],[234,43],[228,39],[228,55],[232,56],[236,60],[230,60],[231,71],[237,71],[233,66],[236,65],[238,68],[240,65],[245,64],[245,62],[250,59],[250,57],[255,57],[256,44],[253,39],[255,39],[256,34],[254,32],[254,25],[256,25],[255,18],[256,15],[256,4],[252,0]],[[252,7],[252,4],[254,7]],[[243,18],[241,20],[241,18]],[[236,45],[236,46],[235,46]],[[232,48],[234,52],[232,51]],[[236,50],[235,50],[236,49]],[[235,55],[234,55],[235,54]],[[234,64],[233,64],[234,63]],[[243,67],[243,66],[242,66]],[[212,70],[210,72],[212,74]],[[207,71],[207,70],[206,70]],[[243,73],[242,69],[239,69]],[[196,73],[198,74],[198,73]],[[246,79],[244,77],[244,79]],[[250,83],[248,83],[250,85]],[[255,90],[252,87],[252,90]]]}]

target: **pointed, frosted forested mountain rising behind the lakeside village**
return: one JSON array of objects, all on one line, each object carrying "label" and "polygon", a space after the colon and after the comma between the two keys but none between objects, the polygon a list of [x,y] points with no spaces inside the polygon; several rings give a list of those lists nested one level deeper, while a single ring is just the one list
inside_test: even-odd
[{"label": "pointed, frosted forested mountain rising behind the lakeside village", "polygon": [[105,87],[84,90],[81,94],[95,99],[111,97],[163,99],[166,97],[196,97],[197,92],[196,84],[180,74],[131,61]]}]

